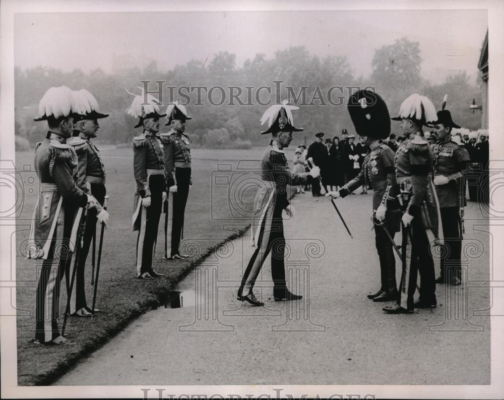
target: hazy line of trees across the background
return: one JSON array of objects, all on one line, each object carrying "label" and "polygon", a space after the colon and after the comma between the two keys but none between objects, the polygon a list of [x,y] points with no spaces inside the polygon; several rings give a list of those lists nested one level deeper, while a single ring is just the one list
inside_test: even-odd
[{"label": "hazy line of trees across the background", "polygon": [[[387,102],[391,116],[398,112],[402,100],[411,93],[425,94],[436,108],[440,107],[443,95],[448,93],[448,108],[454,120],[470,130],[480,128],[480,111],[469,111],[473,98],[481,103],[478,85],[471,84],[465,72],[449,76],[443,84],[432,85],[422,78],[421,62],[419,43],[402,38],[375,51],[372,73],[365,78],[354,75],[346,56],[310,55],[304,46],[278,50],[272,59],[257,54],[254,59],[246,60],[242,67],[237,67],[235,55],[226,51],[215,54],[208,63],[193,60],[169,71],[160,71],[155,61],[143,69],[124,68],[114,73],[101,69],[85,74],[80,69],[63,72],[41,66],[25,70],[16,67],[16,143],[33,145],[43,138],[46,127],[33,122],[38,101],[49,87],[67,85],[72,89],[88,89],[98,100],[100,111],[110,114],[99,121],[102,143],[130,144],[139,130],[133,128],[135,121],[124,112],[132,101],[126,89],[140,93],[141,81],[152,83],[149,90],[157,90],[154,82],[162,81],[165,103],[190,100],[186,108],[193,118],[187,122],[186,133],[195,147],[249,148],[264,144],[259,133],[266,128],[260,126],[259,120],[268,106],[259,105],[258,99],[261,104],[286,98],[291,102],[297,100],[300,110],[295,113],[294,124],[304,128],[304,132],[296,134],[296,145],[310,143],[317,132],[325,132],[329,137],[339,135],[343,128],[352,132],[346,100],[355,87],[375,88]],[[176,98],[169,98],[166,86],[187,89],[184,96],[177,98],[177,90],[174,90]],[[213,90],[210,97],[204,90],[198,93],[198,90],[188,90],[189,87],[222,90]],[[231,94],[237,92],[241,94],[233,101]],[[220,104],[222,95],[226,99]],[[164,121],[163,129],[168,130]],[[393,124],[392,132],[400,134],[399,124]]]}]

